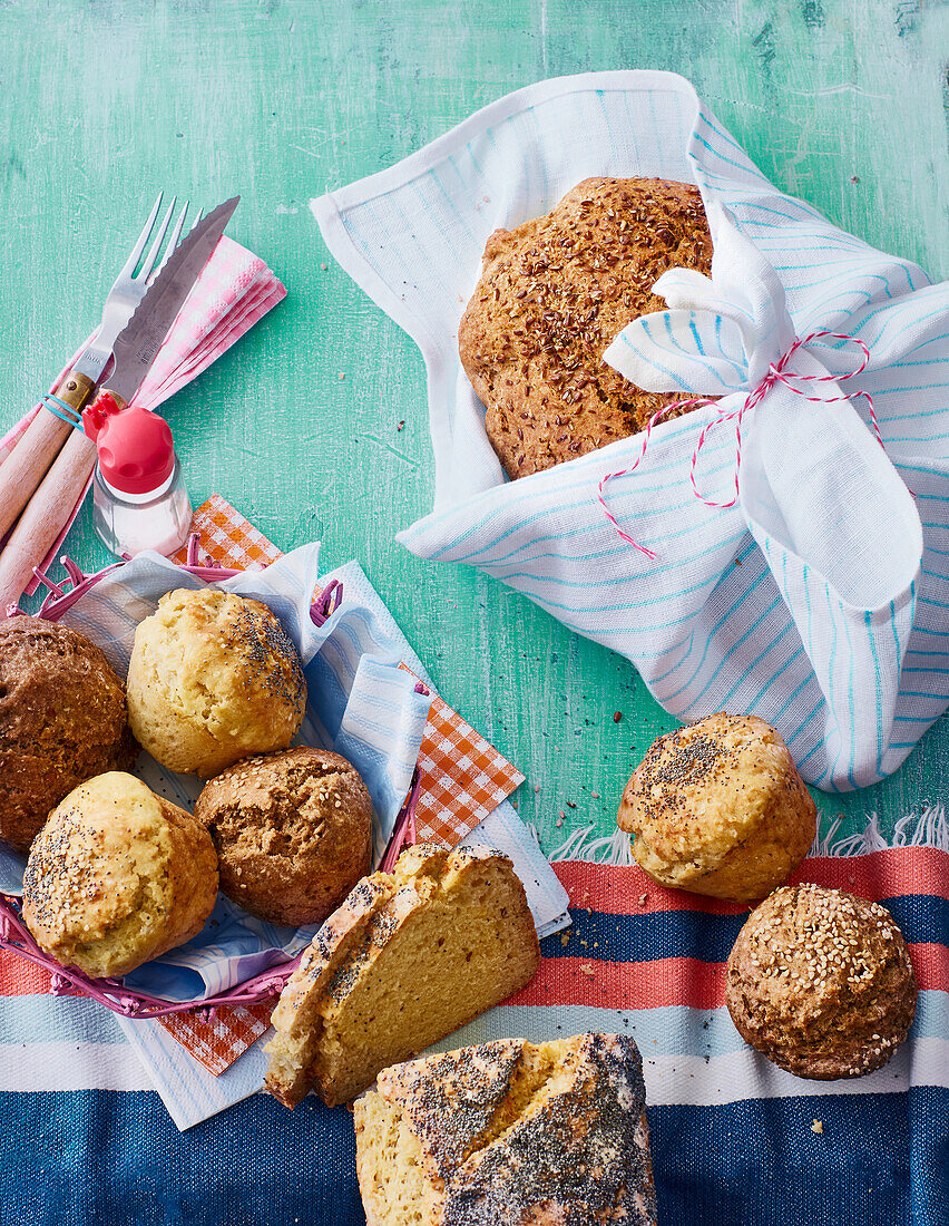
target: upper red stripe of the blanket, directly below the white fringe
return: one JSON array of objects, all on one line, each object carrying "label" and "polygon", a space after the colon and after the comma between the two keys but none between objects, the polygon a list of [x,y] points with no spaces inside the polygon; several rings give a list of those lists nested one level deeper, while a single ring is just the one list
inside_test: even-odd
[{"label": "upper red stripe of the blanket, directly below the white fringe", "polygon": [[[616,868],[571,859],[553,864],[553,870],[569,895],[572,907],[589,907],[607,915],[704,911],[708,915],[733,916],[748,910],[700,894],[666,889],[647,877],[638,864]],[[805,861],[791,881],[814,881],[874,901],[902,894],[942,897],[949,881],[949,852],[936,847],[891,847],[866,856],[818,856]]]}]

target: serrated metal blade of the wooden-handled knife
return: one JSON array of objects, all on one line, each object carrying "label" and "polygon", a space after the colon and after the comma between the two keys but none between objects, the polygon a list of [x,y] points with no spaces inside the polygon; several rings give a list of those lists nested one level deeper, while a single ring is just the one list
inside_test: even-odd
[{"label": "serrated metal blade of the wooden-handled knife", "polygon": [[234,196],[218,205],[181,240],[116,337],[115,368],[107,379],[108,391],[126,405],[141,387],[239,201],[240,196]]}]

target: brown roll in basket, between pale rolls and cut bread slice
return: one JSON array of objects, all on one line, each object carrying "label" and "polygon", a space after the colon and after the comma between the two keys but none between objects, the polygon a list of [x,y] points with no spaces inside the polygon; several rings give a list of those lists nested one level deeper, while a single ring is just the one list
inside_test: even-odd
[{"label": "brown roll in basket, between pale rolls and cut bread slice", "polygon": [[214,842],[222,891],[268,923],[322,923],[371,868],[366,785],[328,749],[242,759],[204,785],[195,817]]}]

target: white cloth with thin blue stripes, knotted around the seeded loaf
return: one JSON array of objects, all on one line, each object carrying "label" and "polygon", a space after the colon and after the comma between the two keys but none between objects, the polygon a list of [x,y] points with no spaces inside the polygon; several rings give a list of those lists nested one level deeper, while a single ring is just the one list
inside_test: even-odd
[{"label": "white cloth with thin blue stripes, knotted around the seeded loaf", "polygon": [[[606,360],[654,391],[721,397],[642,436],[507,482],[458,359],[485,242],[547,212],[582,179],[694,183],[711,278],[672,271],[669,310],[631,324]],[[680,718],[720,709],[775,725],[827,790],[894,771],[949,701],[949,283],[873,250],[778,191],[667,72],[562,77],[509,94],[389,170],[312,204],[327,245],[418,342],[429,378],[432,514],[398,539],[524,592],[628,657]],[[737,505],[689,483],[716,411],[735,412],[817,330],[869,349],[858,376],[782,385],[742,425]],[[814,341],[789,369],[845,375],[862,352]],[[735,493],[735,423],[708,436],[699,489]],[[907,488],[909,487],[909,488]],[[912,494],[910,493],[912,490]],[[737,565],[740,563],[741,565]]]}]

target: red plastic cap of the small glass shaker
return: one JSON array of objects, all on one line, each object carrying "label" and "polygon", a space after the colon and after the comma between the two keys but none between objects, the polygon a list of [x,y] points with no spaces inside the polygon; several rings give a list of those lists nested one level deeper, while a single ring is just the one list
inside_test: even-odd
[{"label": "red plastic cap of the small glass shaker", "polygon": [[114,489],[148,494],[174,472],[171,429],[157,413],[137,406],[119,409],[108,392],[100,392],[82,418],[99,454],[99,471]]}]

